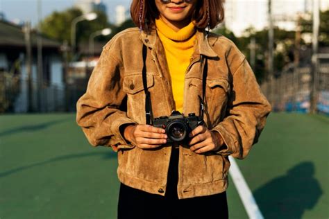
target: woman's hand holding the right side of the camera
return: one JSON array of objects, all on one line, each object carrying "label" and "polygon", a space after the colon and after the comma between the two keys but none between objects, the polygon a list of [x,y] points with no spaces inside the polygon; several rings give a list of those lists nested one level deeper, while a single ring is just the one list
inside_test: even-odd
[{"label": "woman's hand holding the right side of the camera", "polygon": [[189,137],[192,138],[189,141],[189,146],[191,146],[189,149],[197,154],[210,150],[219,150],[224,143],[218,132],[212,132],[203,125],[196,127],[189,134]]}]

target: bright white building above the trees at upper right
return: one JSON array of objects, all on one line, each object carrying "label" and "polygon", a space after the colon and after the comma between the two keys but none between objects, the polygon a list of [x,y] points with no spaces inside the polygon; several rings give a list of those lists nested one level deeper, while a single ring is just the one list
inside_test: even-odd
[{"label": "bright white building above the trees at upper right", "polygon": [[[268,0],[246,1],[227,0],[225,3],[225,26],[236,36],[246,28],[262,30],[269,26]],[[298,16],[310,15],[313,0],[272,0],[274,25],[285,30],[295,30]],[[321,0],[321,10],[329,9],[329,1]]]}]

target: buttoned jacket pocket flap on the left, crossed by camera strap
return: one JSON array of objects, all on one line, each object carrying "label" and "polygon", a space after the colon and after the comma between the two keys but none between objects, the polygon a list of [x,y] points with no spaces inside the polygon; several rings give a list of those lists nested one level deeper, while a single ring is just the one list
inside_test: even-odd
[{"label": "buttoned jacket pocket flap on the left, crossed by camera strap", "polygon": [[[147,78],[147,88],[152,87],[154,85],[153,76],[147,74],[146,78]],[[136,94],[144,90],[142,74],[124,77],[124,85],[122,89],[128,94]]]}]

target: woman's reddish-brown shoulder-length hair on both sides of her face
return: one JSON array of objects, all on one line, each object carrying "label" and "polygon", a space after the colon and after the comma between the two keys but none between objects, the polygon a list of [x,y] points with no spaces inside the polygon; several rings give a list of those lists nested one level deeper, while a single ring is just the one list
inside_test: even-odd
[{"label": "woman's reddish-brown shoulder-length hair on both sides of her face", "polygon": [[[155,0],[143,0],[142,24],[140,24],[140,8],[142,0],[133,0],[130,6],[130,15],[133,22],[138,26],[153,25],[159,12],[155,6]],[[192,20],[196,22],[196,27],[204,29],[208,26],[208,9],[210,28],[214,28],[224,19],[223,0],[198,0],[196,10],[192,14]]]}]

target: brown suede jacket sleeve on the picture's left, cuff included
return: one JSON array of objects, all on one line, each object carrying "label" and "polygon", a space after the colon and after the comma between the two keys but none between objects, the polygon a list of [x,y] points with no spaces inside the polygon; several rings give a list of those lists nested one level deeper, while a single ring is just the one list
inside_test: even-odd
[{"label": "brown suede jacket sleeve on the picture's left, cuff included", "polygon": [[126,96],[122,91],[123,69],[108,47],[104,47],[87,91],[76,104],[76,122],[92,146],[108,146],[117,151],[118,146],[133,148],[121,136],[119,127],[135,122],[119,109]]}]

